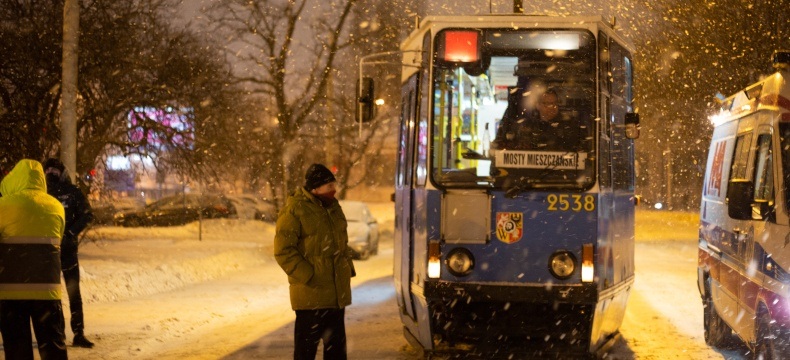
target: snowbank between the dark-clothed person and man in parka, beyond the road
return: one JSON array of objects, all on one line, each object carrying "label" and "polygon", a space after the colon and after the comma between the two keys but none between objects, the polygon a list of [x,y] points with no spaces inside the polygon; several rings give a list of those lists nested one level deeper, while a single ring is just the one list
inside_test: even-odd
[{"label": "snowbank between the dark-clothed person and man in parka, beyond the road", "polygon": [[83,301],[120,301],[263,263],[274,224],[212,219],[175,227],[91,229],[80,246]]}]

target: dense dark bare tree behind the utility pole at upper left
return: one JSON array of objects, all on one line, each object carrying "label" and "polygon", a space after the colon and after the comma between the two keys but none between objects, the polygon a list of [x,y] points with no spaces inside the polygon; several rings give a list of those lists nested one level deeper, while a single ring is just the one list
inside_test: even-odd
[{"label": "dense dark bare tree behind the utility pole at upper left", "polygon": [[[174,4],[81,2],[78,173],[108,151],[201,176],[223,163],[208,135],[227,131],[222,124],[234,118],[229,67],[210,44],[166,21]],[[0,167],[57,156],[62,11],[62,1],[0,0]],[[140,108],[182,111],[189,126],[133,112]]]}]

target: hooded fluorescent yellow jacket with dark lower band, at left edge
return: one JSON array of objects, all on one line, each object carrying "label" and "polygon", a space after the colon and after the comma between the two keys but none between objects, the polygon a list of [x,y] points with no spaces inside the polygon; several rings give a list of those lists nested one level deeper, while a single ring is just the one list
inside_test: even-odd
[{"label": "hooded fluorescent yellow jacket with dark lower band, at left edge", "polygon": [[0,299],[59,300],[63,205],[47,195],[44,170],[22,160],[0,182]]}]

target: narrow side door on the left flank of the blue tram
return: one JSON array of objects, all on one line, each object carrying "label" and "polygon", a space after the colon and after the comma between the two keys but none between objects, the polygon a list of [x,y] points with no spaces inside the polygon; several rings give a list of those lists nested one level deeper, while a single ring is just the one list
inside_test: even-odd
[{"label": "narrow side door on the left flank of the blue tram", "polygon": [[414,236],[412,236],[414,194],[414,140],[417,112],[417,75],[402,90],[401,124],[398,138],[398,164],[395,175],[395,274],[398,305],[404,315],[415,320],[414,302],[409,287],[412,282]]}]

